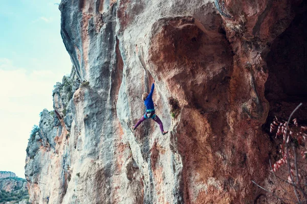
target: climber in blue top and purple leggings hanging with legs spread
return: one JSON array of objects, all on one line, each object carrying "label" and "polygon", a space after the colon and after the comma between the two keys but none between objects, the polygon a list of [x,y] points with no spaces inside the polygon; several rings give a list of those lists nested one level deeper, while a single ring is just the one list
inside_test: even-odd
[{"label": "climber in blue top and purple leggings hanging with legs spread", "polygon": [[151,86],[151,90],[150,93],[143,93],[142,95],[142,99],[144,100],[144,104],[146,106],[146,113],[145,115],[143,115],[143,117],[137,122],[136,125],[132,126],[133,130],[136,130],[137,127],[141,124],[141,122],[143,122],[144,120],[151,118],[153,120],[155,120],[159,126],[160,126],[160,130],[162,132],[162,135],[165,135],[166,133],[168,133],[168,131],[164,131],[163,130],[163,124],[162,121],[160,120],[160,118],[155,114],[155,106],[153,105],[153,101],[152,101],[152,93],[153,93],[153,89],[155,89],[155,80],[153,80],[152,86]]}]

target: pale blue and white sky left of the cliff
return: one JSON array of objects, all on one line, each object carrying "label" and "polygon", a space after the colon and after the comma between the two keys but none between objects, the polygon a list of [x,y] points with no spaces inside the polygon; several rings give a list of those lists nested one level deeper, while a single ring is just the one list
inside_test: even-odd
[{"label": "pale blue and white sky left of the cliff", "polygon": [[2,0],[0,171],[25,177],[26,148],[39,113],[72,63],[60,35],[60,0]]}]

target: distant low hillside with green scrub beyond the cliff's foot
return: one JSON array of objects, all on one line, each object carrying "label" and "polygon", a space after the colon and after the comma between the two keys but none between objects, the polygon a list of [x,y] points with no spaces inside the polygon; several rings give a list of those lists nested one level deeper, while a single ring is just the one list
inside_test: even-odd
[{"label": "distant low hillside with green scrub beyond the cliff's foot", "polygon": [[0,171],[0,204],[4,203],[30,203],[27,180],[10,171]]}]

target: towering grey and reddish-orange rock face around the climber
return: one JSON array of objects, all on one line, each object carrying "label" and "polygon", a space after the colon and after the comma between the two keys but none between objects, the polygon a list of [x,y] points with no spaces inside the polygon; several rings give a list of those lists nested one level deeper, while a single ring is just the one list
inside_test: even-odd
[{"label": "towering grey and reddish-orange rock face around the climber", "polygon": [[[306,47],[306,1],[62,0],[59,8],[73,69],[29,140],[32,203],[278,203],[251,180],[272,187],[274,150],[261,125],[273,104],[303,99],[275,62],[278,47],[293,49],[283,32],[300,33]],[[305,83],[303,62],[296,85]],[[130,129],[153,79],[165,136],[149,120]],[[282,98],[276,83],[285,83]]]}]

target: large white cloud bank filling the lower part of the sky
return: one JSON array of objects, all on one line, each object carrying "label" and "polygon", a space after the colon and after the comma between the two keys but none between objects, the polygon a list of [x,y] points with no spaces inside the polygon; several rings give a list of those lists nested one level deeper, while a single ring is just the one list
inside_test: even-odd
[{"label": "large white cloud bank filling the lower part of the sky", "polygon": [[27,70],[0,58],[0,170],[24,177],[26,148],[39,113],[52,109],[56,74],[51,70]]}]

